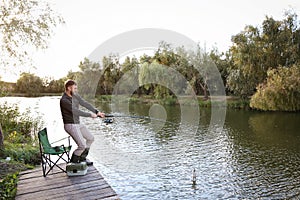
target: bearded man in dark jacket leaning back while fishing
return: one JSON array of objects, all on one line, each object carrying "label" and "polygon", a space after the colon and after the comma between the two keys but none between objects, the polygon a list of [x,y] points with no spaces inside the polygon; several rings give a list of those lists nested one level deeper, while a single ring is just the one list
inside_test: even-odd
[{"label": "bearded man in dark jacket leaning back while fishing", "polygon": [[[87,108],[91,113],[79,110],[79,105]],[[60,110],[64,129],[78,146],[72,154],[71,162],[79,163],[84,161],[87,165],[92,165],[93,163],[87,161],[86,157],[94,141],[94,136],[84,125],[80,124],[79,117],[105,117],[105,114],[99,112],[77,94],[77,84],[73,80],[65,82],[65,92],[60,99]]]}]

